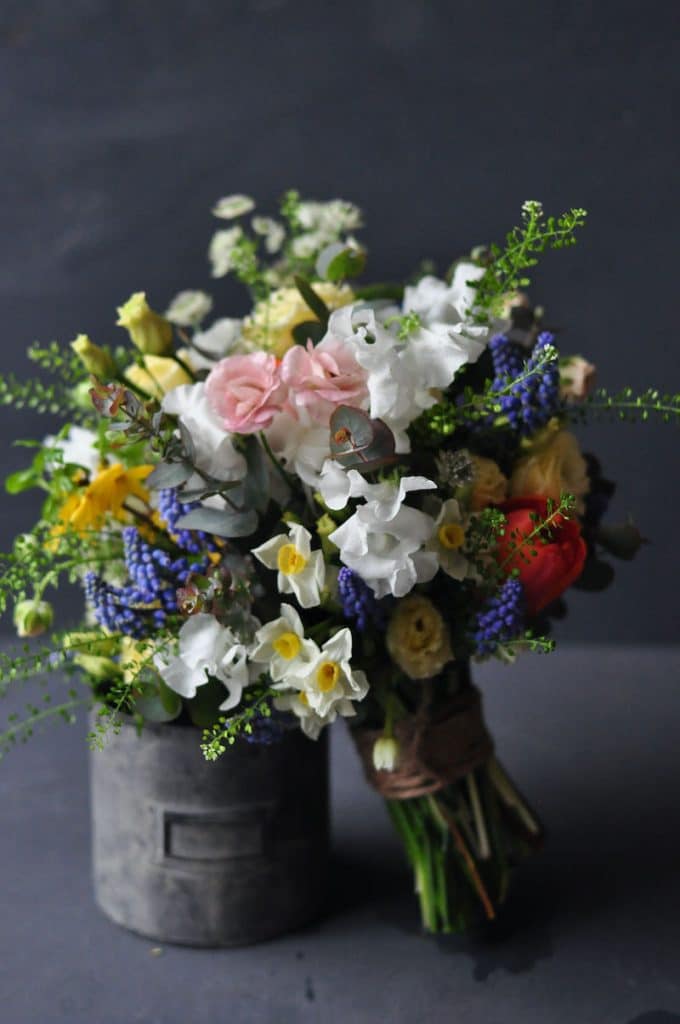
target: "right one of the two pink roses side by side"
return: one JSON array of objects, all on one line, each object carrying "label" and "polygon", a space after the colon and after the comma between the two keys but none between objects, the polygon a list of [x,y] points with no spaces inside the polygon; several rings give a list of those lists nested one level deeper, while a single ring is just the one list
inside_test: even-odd
[{"label": "right one of the two pink roses side by side", "polygon": [[297,416],[305,410],[316,423],[327,424],[336,406],[365,404],[368,397],[366,371],[348,345],[326,338],[314,348],[289,348],[281,366],[288,388],[288,409]]}]

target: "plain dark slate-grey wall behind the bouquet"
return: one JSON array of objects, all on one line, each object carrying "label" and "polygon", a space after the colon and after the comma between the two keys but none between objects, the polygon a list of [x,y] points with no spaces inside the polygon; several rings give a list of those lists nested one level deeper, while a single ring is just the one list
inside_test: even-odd
[{"label": "plain dark slate-grey wall behind the bouquet", "polygon": [[[0,369],[31,341],[112,338],[115,306],[209,284],[209,215],[291,185],[366,210],[370,268],[443,269],[511,226],[523,199],[589,209],[534,296],[612,388],[680,388],[676,5],[652,0],[307,3],[4,0],[0,5]],[[677,33],[676,33],[677,35]],[[219,309],[244,311],[229,284]],[[49,421],[0,411],[10,438]],[[584,432],[584,438],[586,433]],[[594,425],[587,446],[652,544],[569,640],[677,642],[677,429]],[[35,515],[2,499],[0,547]]]}]

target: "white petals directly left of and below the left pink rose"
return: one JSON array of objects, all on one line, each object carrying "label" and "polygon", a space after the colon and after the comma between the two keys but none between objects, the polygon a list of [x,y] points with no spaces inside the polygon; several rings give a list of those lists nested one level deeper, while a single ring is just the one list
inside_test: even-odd
[{"label": "white petals directly left of and below the left pink rose", "polygon": [[179,417],[196,447],[196,465],[218,480],[241,480],[246,460],[233,446],[205,393],[205,384],[182,384],[164,396],[164,413]]}]

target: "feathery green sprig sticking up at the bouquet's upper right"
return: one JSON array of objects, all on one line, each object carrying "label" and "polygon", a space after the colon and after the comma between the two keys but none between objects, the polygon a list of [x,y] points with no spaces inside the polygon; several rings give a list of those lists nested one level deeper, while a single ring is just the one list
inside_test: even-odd
[{"label": "feathery green sprig sticking up at the bouquet's upper right", "polygon": [[492,245],[483,276],[474,282],[477,317],[485,322],[499,312],[508,292],[530,284],[526,270],[536,266],[546,249],[576,245],[576,231],[586,222],[586,211],[575,207],[559,217],[546,217],[543,206],[527,200],[522,206],[521,223],[508,231],[503,247]]}]

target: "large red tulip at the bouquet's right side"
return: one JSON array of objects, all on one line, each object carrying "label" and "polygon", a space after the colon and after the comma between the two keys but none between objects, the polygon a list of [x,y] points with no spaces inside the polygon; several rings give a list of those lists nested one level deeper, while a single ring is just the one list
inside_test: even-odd
[{"label": "large red tulip at the bouquet's right side", "polygon": [[500,506],[507,523],[499,538],[497,558],[508,575],[518,569],[526,595],[526,610],[536,614],[578,580],[586,560],[586,542],[575,519],[555,516],[550,526],[524,543],[548,518],[548,500],[539,496],[513,498]]}]

